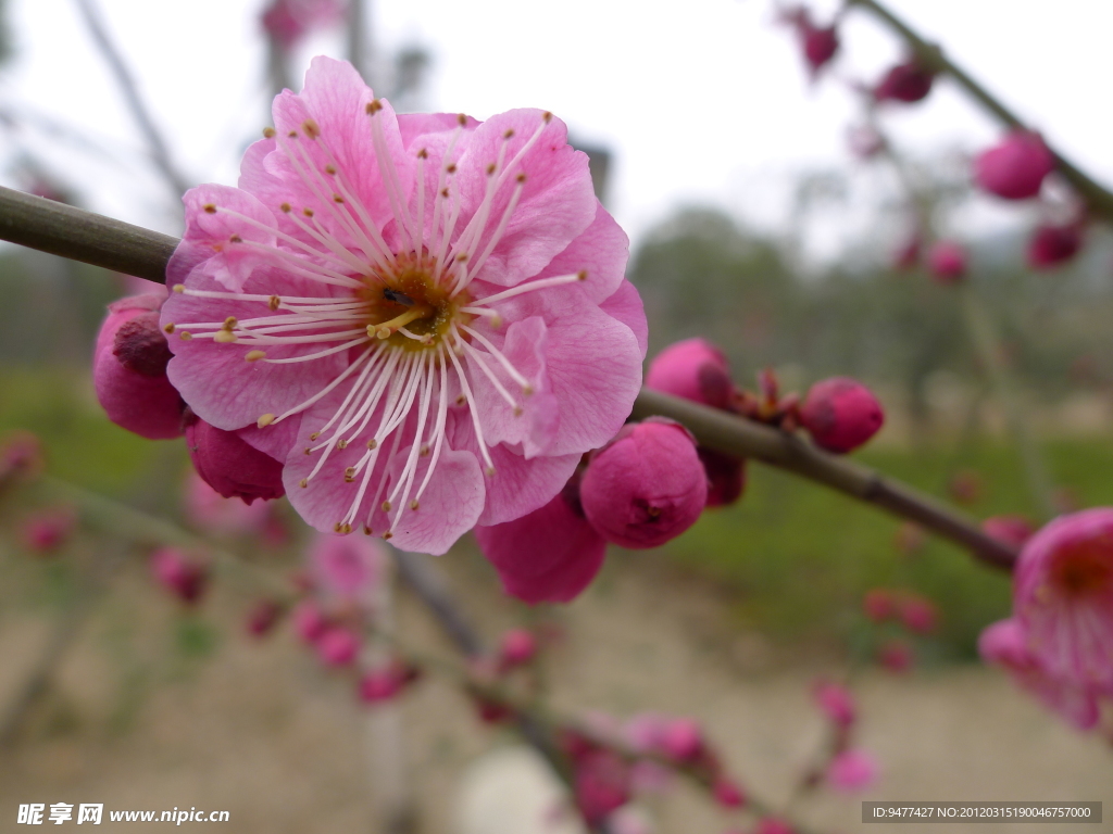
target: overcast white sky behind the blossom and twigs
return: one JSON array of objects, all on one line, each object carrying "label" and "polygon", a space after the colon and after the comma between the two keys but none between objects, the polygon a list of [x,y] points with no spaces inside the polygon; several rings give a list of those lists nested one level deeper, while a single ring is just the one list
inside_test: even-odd
[{"label": "overcast white sky behind the blossom and twigs", "polygon": [[[1053,143],[1113,182],[1109,0],[889,0]],[[262,0],[99,0],[181,168],[234,182],[244,142],[266,123]],[[826,79],[811,88],[770,0],[373,0],[381,49],[435,59],[429,109],[477,118],[543,107],[609,146],[611,208],[637,238],[678,205],[712,202],[775,228],[801,170],[847,167],[857,105]],[[829,12],[834,3],[815,3]],[[65,168],[96,210],[175,231],[165,188],[141,172],[142,143],[70,0],[9,0],[17,57],[0,105],[65,122],[108,149],[91,156],[37,131],[0,135]],[[306,44],[343,57],[338,33]],[[838,67],[873,79],[897,41],[861,12]],[[298,76],[301,75],[298,68]],[[906,147],[976,150],[996,129],[939,86],[887,118]],[[140,171],[137,173],[137,170]]]}]

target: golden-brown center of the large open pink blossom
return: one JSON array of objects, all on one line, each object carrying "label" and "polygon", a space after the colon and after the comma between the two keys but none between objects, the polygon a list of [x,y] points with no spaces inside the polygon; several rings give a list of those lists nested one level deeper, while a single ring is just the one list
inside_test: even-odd
[{"label": "golden-brown center of the large open pink blossom", "polygon": [[367,304],[367,335],[403,350],[435,348],[474,318],[464,312],[466,291],[451,296],[451,281],[436,280],[429,256],[401,255],[390,271],[376,269],[356,296]]}]

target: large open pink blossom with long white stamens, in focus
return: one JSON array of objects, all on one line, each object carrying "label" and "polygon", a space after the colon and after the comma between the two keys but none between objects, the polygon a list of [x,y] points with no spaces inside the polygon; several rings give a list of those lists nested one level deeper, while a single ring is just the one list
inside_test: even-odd
[{"label": "large open pink blossom with long white stamens, in focus", "polygon": [[444,553],[546,504],[641,384],[627,237],[551,113],[395,116],[317,58],[185,198],[169,377],[322,530]]}]

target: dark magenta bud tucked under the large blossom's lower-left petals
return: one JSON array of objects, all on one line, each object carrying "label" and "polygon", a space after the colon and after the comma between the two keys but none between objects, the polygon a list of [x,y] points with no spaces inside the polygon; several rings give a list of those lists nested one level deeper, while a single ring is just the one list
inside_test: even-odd
[{"label": "dark magenta bud tucked under the large blossom's lower-left petals", "polygon": [[197,474],[225,498],[239,497],[250,504],[286,494],[282,463],[248,446],[235,431],[195,417],[186,427],[186,446]]}]

